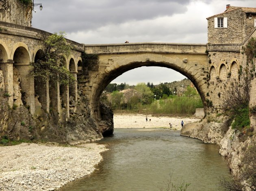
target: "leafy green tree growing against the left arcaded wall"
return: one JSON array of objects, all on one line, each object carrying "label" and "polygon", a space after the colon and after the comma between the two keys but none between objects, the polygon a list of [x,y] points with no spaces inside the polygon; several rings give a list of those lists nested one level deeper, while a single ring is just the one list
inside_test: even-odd
[{"label": "leafy green tree growing against the left arcaded wall", "polygon": [[42,41],[44,56],[31,63],[30,75],[39,82],[59,82],[67,85],[74,77],[66,67],[63,56],[69,56],[72,46],[65,39],[65,33],[54,33]]}]

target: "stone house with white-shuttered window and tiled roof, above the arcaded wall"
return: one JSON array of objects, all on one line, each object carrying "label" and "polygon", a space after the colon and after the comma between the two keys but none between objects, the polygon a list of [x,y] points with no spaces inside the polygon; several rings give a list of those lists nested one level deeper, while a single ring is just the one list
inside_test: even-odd
[{"label": "stone house with white-shuttered window and tiled roof, above the arcaded wall", "polygon": [[208,43],[242,43],[256,27],[256,8],[226,5],[226,11],[207,20]]}]

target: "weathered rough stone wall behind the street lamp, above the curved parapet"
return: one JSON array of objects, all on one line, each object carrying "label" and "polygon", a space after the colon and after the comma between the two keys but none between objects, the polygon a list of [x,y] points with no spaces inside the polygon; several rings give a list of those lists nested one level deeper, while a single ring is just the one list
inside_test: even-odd
[{"label": "weathered rough stone wall behind the street lamp, above the curved parapet", "polygon": [[31,26],[32,9],[32,4],[20,0],[0,0],[0,21]]}]

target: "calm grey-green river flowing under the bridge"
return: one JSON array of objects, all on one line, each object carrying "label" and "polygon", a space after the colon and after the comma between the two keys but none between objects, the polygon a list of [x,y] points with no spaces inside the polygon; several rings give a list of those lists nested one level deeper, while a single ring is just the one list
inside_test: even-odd
[{"label": "calm grey-green river flowing under the bridge", "polygon": [[180,136],[169,129],[115,129],[104,160],[91,175],[61,191],[160,191],[167,180],[191,183],[189,191],[217,191],[229,168],[218,146]]}]

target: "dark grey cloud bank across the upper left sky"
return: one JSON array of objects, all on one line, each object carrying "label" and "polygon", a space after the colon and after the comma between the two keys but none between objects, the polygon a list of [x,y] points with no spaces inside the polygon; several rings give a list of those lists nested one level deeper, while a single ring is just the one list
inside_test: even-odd
[{"label": "dark grey cloud bank across the upper left sky", "polygon": [[[95,29],[187,11],[191,0],[44,0],[43,10],[33,15],[33,27],[49,32]],[[44,22],[47,21],[47,22]]]}]

